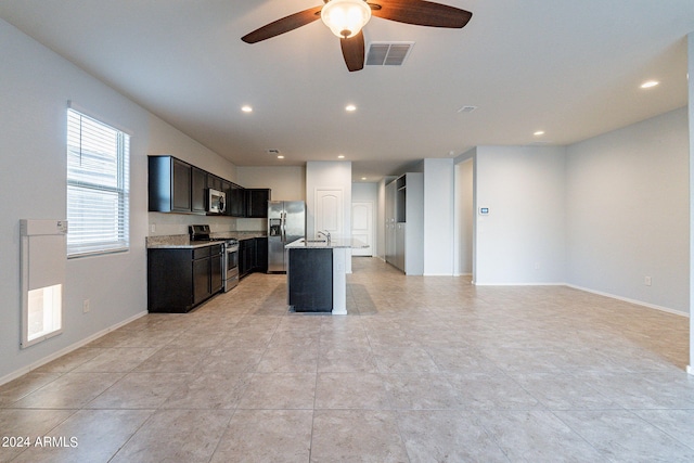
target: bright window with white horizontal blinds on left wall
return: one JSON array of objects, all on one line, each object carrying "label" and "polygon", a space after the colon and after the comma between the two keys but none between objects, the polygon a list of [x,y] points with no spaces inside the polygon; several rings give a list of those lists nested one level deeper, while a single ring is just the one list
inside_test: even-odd
[{"label": "bright window with white horizontal blinds on left wall", "polygon": [[130,137],[67,110],[67,257],[128,250]]}]

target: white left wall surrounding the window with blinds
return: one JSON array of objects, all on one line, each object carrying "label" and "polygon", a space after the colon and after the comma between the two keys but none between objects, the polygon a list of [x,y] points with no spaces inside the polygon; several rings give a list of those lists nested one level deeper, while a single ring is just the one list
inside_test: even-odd
[{"label": "white left wall surrounding the window with blinds", "polygon": [[[182,136],[125,97],[0,21],[0,383],[59,352],[146,311],[147,154],[168,153],[203,168],[233,165]],[[20,219],[66,215],[66,108],[72,100],[91,115],[132,133],[130,250],[70,259],[64,292],[64,332],[20,349]],[[222,169],[223,167],[223,169]],[[91,311],[82,313],[83,299]]]}]

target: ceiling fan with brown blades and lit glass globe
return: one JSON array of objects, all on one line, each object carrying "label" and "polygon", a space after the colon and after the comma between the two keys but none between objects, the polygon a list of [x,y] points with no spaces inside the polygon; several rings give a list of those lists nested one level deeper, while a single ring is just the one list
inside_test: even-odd
[{"label": "ceiling fan with brown blades and lit glass globe", "polygon": [[425,0],[323,0],[309,8],[246,34],[246,43],[256,43],[317,21],[339,37],[345,64],[350,72],[364,67],[364,36],[361,30],[371,15],[417,26],[462,28],[473,14],[465,10]]}]

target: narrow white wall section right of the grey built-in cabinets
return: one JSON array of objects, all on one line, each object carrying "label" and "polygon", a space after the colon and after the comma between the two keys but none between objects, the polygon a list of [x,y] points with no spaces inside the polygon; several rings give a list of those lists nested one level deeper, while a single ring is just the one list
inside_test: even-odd
[{"label": "narrow white wall section right of the grey built-in cabinets", "polygon": [[425,275],[453,274],[454,198],[453,159],[424,159]]}]

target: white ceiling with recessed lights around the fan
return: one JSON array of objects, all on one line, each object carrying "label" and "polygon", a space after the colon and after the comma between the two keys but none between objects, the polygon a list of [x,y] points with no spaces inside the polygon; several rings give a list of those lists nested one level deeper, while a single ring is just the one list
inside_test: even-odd
[{"label": "white ceiling with recessed lights around the fan", "polygon": [[[403,66],[357,73],[320,21],[240,39],[320,3],[2,0],[0,17],[239,166],[343,154],[376,180],[475,145],[573,143],[687,101],[693,0],[444,0],[473,12],[465,28],[373,17],[367,43],[415,46]],[[641,90],[648,79],[661,83]]]}]

